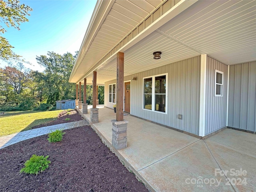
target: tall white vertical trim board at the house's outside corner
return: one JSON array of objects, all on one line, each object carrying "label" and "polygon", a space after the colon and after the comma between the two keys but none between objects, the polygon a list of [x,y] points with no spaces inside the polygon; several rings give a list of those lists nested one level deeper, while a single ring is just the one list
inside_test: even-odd
[{"label": "tall white vertical trim board at the house's outside corner", "polygon": [[205,136],[205,106],[206,106],[206,60],[207,55],[201,54],[200,70],[200,103],[199,103],[199,136]]}]

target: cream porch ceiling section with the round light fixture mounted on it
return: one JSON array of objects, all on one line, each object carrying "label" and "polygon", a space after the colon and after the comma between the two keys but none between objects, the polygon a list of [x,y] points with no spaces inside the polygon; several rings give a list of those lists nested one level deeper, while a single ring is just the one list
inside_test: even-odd
[{"label": "cream porch ceiling section with the round light fixture mounted on it", "polygon": [[[160,60],[153,59],[154,51],[162,52]],[[198,55],[200,55],[199,52],[167,38],[158,32],[153,32],[124,52],[124,76]],[[106,81],[115,79],[116,59],[96,71],[97,83],[103,84]],[[91,78],[91,75],[87,77],[87,79]]]}]

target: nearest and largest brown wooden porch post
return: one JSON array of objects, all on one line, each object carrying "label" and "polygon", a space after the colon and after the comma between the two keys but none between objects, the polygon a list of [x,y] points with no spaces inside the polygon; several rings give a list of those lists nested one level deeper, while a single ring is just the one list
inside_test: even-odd
[{"label": "nearest and largest brown wooden porch post", "polygon": [[117,53],[116,61],[116,120],[124,120],[124,53]]}]

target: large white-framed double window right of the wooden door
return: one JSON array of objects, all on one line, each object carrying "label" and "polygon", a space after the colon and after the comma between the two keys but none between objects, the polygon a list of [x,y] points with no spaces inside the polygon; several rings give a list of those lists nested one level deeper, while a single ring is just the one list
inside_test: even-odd
[{"label": "large white-framed double window right of the wooden door", "polygon": [[143,78],[144,110],[167,114],[167,74]]}]

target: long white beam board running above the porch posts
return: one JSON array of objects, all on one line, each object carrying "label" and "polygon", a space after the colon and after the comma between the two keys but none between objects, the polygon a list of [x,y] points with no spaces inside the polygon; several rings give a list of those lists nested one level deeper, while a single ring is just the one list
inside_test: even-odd
[{"label": "long white beam board running above the porch posts", "polygon": [[[130,47],[134,46],[136,43],[138,43],[140,40],[166,24],[168,21],[170,21],[172,18],[186,10],[188,7],[192,6],[194,3],[196,3],[198,0],[180,0],[175,6],[173,6],[170,10],[168,10],[166,13],[164,13],[160,18],[155,20],[152,24],[150,24],[147,28],[145,28],[142,32],[140,32],[136,37],[132,38],[128,43],[126,43],[124,46],[122,46],[119,50],[117,50],[112,56],[110,56],[108,59],[106,59],[102,64],[97,65],[97,63],[90,69],[80,80],[77,82],[80,82],[82,79],[86,78],[88,75],[92,73],[92,71],[96,70],[100,66],[104,66],[108,64],[110,61],[112,61],[114,58],[116,58],[116,53],[118,52],[124,52],[128,50]],[[105,56],[104,56],[105,57]],[[103,58],[104,58],[103,57]]]}]

